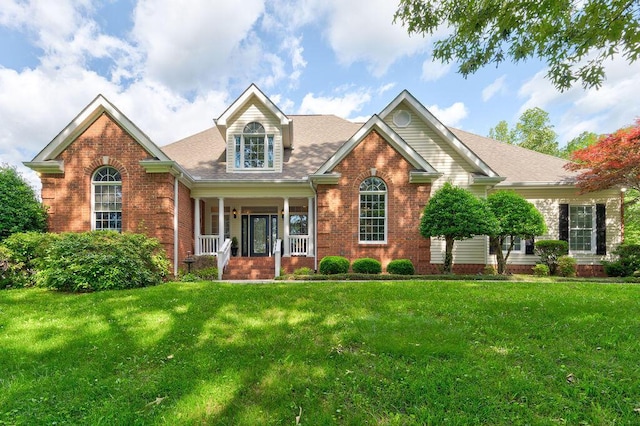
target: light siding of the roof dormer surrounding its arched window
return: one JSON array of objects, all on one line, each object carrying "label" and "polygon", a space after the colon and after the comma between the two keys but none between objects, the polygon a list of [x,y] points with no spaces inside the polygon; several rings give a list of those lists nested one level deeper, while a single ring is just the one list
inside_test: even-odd
[{"label": "light siding of the roof dormer surrounding its arched window", "polygon": [[236,169],[235,168],[235,137],[242,134],[244,126],[257,121],[264,126],[268,135],[273,135],[273,170],[260,170],[261,172],[273,171],[274,173],[282,172],[282,129],[280,120],[273,115],[268,108],[260,102],[248,103],[229,119],[227,128],[227,172],[251,173],[254,170]]}]

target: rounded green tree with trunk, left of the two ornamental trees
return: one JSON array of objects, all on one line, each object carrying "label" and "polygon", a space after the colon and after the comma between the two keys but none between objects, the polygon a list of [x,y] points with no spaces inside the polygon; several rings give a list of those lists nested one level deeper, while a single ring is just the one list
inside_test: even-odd
[{"label": "rounded green tree with trunk, left of the two ornamental trees", "polygon": [[449,182],[433,194],[420,220],[423,237],[438,237],[445,241],[445,274],[452,271],[455,241],[476,235],[493,235],[497,229],[498,222],[486,201]]}]

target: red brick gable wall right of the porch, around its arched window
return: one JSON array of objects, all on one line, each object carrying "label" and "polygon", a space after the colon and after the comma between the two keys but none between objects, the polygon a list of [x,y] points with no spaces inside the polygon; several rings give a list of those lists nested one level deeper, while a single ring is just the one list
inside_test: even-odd
[{"label": "red brick gable wall right of the porch, around its arched window", "polygon": [[[360,184],[371,176],[371,168],[387,185],[386,244],[359,243]],[[393,259],[411,259],[417,273],[428,273],[430,243],[418,228],[431,185],[409,183],[413,169],[380,134],[369,133],[334,168],[341,173],[338,185],[318,185],[318,259],[371,257],[380,260],[383,269]]]}]

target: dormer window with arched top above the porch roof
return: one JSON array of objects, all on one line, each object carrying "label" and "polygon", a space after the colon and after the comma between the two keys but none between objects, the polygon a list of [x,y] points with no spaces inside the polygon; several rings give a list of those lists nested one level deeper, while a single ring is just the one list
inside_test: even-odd
[{"label": "dormer window with arched top above the porch roof", "polygon": [[273,135],[268,135],[262,124],[247,124],[235,139],[237,169],[273,169]]}]

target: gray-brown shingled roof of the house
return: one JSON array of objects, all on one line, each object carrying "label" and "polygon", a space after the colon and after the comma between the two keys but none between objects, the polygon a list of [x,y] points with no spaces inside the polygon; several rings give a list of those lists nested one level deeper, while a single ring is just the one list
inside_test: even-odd
[{"label": "gray-brown shingled roof of the house", "polygon": [[[215,126],[161,149],[195,179],[299,181],[318,170],[362,127],[362,123],[335,115],[290,115],[289,118],[293,121],[293,149],[285,150],[282,173],[227,173],[225,142]],[[506,178],[500,185],[562,183],[570,182],[575,176],[563,168],[567,162],[560,158],[463,130],[450,130],[491,169]]]}]

